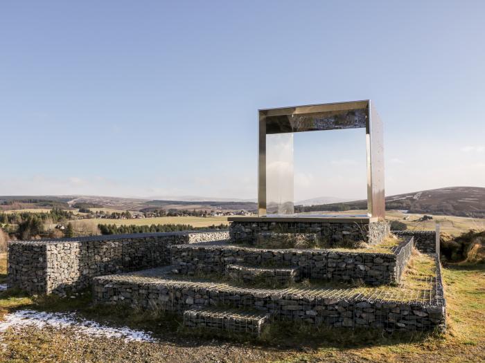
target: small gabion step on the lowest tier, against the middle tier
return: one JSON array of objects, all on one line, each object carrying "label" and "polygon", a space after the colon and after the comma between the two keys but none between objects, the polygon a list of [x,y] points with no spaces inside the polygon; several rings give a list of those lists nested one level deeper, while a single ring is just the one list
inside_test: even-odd
[{"label": "small gabion step on the lowest tier, against the middle tier", "polygon": [[231,263],[226,266],[230,279],[243,282],[265,281],[267,283],[288,284],[301,280],[301,268],[290,267],[254,267],[244,263]]}]

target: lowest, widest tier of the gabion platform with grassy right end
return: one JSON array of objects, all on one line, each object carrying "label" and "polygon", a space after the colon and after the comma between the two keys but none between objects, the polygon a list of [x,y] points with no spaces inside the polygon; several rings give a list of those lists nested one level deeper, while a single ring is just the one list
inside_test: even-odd
[{"label": "lowest, widest tier of the gabion platform with grassy right end", "polygon": [[446,324],[439,263],[425,254],[413,257],[400,286],[310,282],[292,288],[252,288],[170,274],[170,267],[95,277],[93,284],[97,303],[181,314],[206,306],[231,306],[315,325],[427,331]]}]

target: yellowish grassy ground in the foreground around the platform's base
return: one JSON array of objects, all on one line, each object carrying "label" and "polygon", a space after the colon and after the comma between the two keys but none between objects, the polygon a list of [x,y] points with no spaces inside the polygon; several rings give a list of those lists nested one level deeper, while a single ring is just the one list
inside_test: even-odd
[{"label": "yellowish grassy ground in the foreground around the platform's base", "polygon": [[[0,255],[0,281],[5,280]],[[124,342],[118,338],[79,337],[68,328],[24,327],[0,333],[1,362],[484,362],[485,266],[449,265],[443,269],[448,302],[445,335],[381,335],[371,331],[296,331],[275,326],[261,341],[188,335],[178,318],[138,310],[91,306],[89,292],[80,299],[26,297],[0,292],[0,320],[16,309],[76,311],[112,326],[146,328],[159,342]]]}]

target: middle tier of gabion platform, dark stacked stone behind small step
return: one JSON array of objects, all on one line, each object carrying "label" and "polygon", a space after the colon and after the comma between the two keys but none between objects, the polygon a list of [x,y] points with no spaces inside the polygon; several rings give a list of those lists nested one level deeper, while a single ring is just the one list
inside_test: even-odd
[{"label": "middle tier of gabion platform, dark stacked stone behind small step", "polygon": [[252,266],[301,269],[301,276],[330,281],[360,280],[372,286],[398,283],[411,257],[412,237],[403,239],[391,252],[344,252],[335,250],[266,250],[235,245],[174,245],[173,272],[179,274],[224,273],[226,266],[246,263]]}]

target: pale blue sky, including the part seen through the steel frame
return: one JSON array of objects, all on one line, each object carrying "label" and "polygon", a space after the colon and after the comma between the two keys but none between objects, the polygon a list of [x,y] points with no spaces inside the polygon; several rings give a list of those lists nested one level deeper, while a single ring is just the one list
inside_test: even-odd
[{"label": "pale blue sky, including the part seen through the steel frame", "polygon": [[[388,195],[485,187],[484,14],[485,1],[2,1],[0,195],[254,198],[257,109],[362,99],[385,122]],[[364,196],[363,151],[354,131],[295,136],[295,198]]]}]

